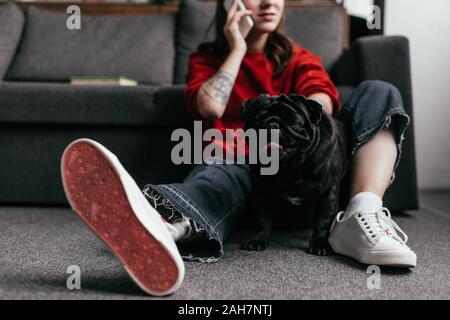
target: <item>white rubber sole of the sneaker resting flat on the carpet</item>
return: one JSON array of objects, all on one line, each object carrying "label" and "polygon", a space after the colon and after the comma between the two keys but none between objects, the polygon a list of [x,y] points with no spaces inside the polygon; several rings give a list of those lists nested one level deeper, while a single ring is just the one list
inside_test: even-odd
[{"label": "white rubber sole of the sneaker resting flat on the carpet", "polygon": [[329,239],[328,242],[335,253],[352,257],[364,264],[409,269],[416,267],[417,257],[408,253],[405,254],[399,251],[372,251],[364,253],[332,239]]}]

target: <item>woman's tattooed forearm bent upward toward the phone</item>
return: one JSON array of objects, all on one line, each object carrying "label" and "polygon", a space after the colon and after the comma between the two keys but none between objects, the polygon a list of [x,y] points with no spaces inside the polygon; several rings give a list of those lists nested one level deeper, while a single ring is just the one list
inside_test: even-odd
[{"label": "woman's tattooed forearm bent upward toward the phone", "polygon": [[214,120],[222,117],[244,55],[244,50],[231,51],[219,71],[200,87],[197,105],[203,118]]}]

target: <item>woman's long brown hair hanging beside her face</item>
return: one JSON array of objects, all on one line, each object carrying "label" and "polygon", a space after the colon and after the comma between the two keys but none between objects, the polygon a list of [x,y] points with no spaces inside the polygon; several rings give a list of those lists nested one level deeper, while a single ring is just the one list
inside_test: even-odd
[{"label": "woman's long brown hair hanging beside her face", "polygon": [[[223,2],[224,0],[217,0],[215,18],[206,31],[208,32],[212,24],[215,22],[215,40],[202,43],[197,48],[197,50],[199,51],[212,49],[213,52],[221,59],[225,59],[225,57],[230,52],[227,38],[225,37],[225,34],[223,32],[223,28],[225,27],[225,23],[227,21],[227,11],[225,10]],[[279,73],[281,73],[289,64],[289,61],[292,57],[294,41],[283,34],[281,30],[283,24],[284,16],[281,18],[281,21],[277,28],[269,34],[266,46],[264,48],[264,53],[274,64],[274,75],[278,75]]]}]

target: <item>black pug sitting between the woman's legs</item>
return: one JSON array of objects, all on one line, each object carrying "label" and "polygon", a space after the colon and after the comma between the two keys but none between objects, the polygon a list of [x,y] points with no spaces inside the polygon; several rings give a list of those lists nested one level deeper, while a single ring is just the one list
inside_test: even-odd
[{"label": "black pug sitting between the woman's legs", "polygon": [[261,175],[260,164],[250,165],[250,206],[260,231],[241,249],[266,249],[279,201],[288,201],[298,209],[306,206],[314,210],[314,232],[308,252],[331,253],[329,230],[338,211],[340,184],[347,164],[345,127],[327,116],[318,102],[297,94],[262,94],[242,105],[245,129],[279,129],[279,144],[266,146],[272,152],[278,149],[279,169],[275,175]]}]

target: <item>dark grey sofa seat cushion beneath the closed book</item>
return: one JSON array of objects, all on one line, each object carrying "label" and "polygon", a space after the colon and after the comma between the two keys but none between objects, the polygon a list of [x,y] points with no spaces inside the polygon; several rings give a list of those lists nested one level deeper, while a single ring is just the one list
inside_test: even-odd
[{"label": "dark grey sofa seat cushion beneath the closed book", "polygon": [[180,126],[189,119],[182,104],[183,90],[170,90],[181,103],[172,99],[174,103],[166,100],[167,104],[157,105],[155,86],[4,81],[0,83],[0,123]]}]

